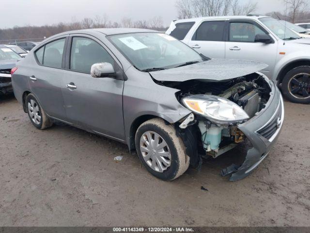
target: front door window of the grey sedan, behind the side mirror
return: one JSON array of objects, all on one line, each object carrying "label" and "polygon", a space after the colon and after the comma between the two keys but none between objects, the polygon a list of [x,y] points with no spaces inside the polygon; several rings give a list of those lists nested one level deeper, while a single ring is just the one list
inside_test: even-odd
[{"label": "front door window of the grey sedan, behind the side mirror", "polygon": [[89,38],[73,37],[70,69],[90,73],[92,65],[101,62],[114,65],[113,58],[97,42]]}]

